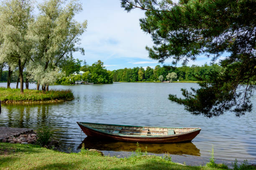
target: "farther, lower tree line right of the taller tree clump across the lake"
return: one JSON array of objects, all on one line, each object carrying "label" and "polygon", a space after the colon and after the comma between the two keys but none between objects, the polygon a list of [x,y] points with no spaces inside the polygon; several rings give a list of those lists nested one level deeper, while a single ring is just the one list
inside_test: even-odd
[{"label": "farther, lower tree line right of the taller tree clump across the lake", "polygon": [[[146,67],[144,70],[143,67],[133,67],[133,68],[124,68],[119,70],[113,70],[113,81],[127,81],[127,82],[136,82],[136,81],[161,81],[164,80],[199,80],[200,77],[208,78],[211,72],[220,72],[222,67],[217,64],[214,65],[192,65],[182,66],[182,67],[171,67],[156,65],[153,69],[151,67]],[[176,73],[177,77],[174,75]],[[168,75],[169,74],[169,75]],[[172,75],[173,74],[173,75]],[[167,77],[166,77],[167,76]]]}]

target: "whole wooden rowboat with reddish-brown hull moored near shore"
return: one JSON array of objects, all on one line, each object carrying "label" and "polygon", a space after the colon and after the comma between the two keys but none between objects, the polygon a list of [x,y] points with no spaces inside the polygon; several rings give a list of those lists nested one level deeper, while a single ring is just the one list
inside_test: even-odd
[{"label": "whole wooden rowboat with reddish-brown hull moored near shore", "polygon": [[138,143],[180,143],[194,139],[201,128],[168,128],[77,122],[85,135]]}]

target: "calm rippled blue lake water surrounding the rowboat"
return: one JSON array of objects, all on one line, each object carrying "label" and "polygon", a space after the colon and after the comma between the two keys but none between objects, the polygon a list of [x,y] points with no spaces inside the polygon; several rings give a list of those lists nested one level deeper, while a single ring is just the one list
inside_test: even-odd
[{"label": "calm rippled blue lake water surrounding the rowboat", "polygon": [[[6,86],[6,83],[0,83]],[[16,85],[11,84],[12,87]],[[169,127],[200,127],[191,143],[140,144],[148,153],[163,155],[187,165],[209,162],[214,146],[218,163],[230,165],[248,160],[256,164],[256,96],[251,98],[253,111],[242,117],[227,112],[219,117],[195,116],[184,107],[168,100],[170,93],[182,96],[180,88],[198,87],[195,83],[114,83],[110,85],[50,86],[50,89],[72,89],[75,99],[59,104],[2,105],[0,126],[37,129],[43,125],[60,140],[59,150],[79,152],[80,145],[102,150],[118,158],[131,155],[135,143],[95,141],[86,138],[77,125],[81,122]],[[30,84],[30,88],[36,88]],[[1,95],[1,94],[0,94]]]}]

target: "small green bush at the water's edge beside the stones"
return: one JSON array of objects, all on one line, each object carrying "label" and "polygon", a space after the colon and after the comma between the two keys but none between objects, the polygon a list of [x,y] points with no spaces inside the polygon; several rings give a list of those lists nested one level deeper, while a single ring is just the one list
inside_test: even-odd
[{"label": "small green bush at the water's edge beside the stones", "polygon": [[49,142],[51,142],[52,133],[51,130],[46,126],[39,128],[36,133],[38,137],[36,143],[38,143],[39,145],[45,146],[48,145]]}]

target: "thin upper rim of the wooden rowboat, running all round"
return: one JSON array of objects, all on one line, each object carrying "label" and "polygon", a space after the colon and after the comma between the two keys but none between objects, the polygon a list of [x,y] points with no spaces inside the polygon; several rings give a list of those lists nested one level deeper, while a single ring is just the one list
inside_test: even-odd
[{"label": "thin upper rim of the wooden rowboat, running all round", "polygon": [[[105,123],[91,123],[91,122],[77,122],[78,125],[82,125],[86,128],[89,128],[91,130],[95,130],[95,131],[98,131],[100,133],[105,133],[105,134],[108,134],[108,135],[114,135],[114,136],[127,136],[127,137],[133,137],[133,138],[169,138],[169,137],[175,137],[175,136],[180,136],[180,135],[185,135],[185,134],[189,134],[189,133],[193,133],[193,132],[196,132],[198,130],[201,130],[201,128],[195,128],[195,130],[191,130],[191,131],[188,131],[188,132],[184,132],[184,133],[179,133],[179,134],[174,134],[174,135],[156,135],[156,136],[150,136],[150,135],[130,135],[130,134],[115,134],[115,133],[108,133],[108,132],[105,132],[105,131],[102,131],[102,130],[97,130],[95,128],[91,128],[90,126],[87,126],[87,125],[83,125],[82,123],[90,123],[90,124],[97,124],[97,125],[115,125],[115,124],[105,124]],[[128,127],[140,127],[140,128],[143,128],[143,127],[150,127],[150,128],[169,128],[169,127],[160,127],[160,126],[132,126],[132,125],[115,125],[115,126],[128,126]],[[173,129],[184,129],[184,128],[173,128]]]}]

